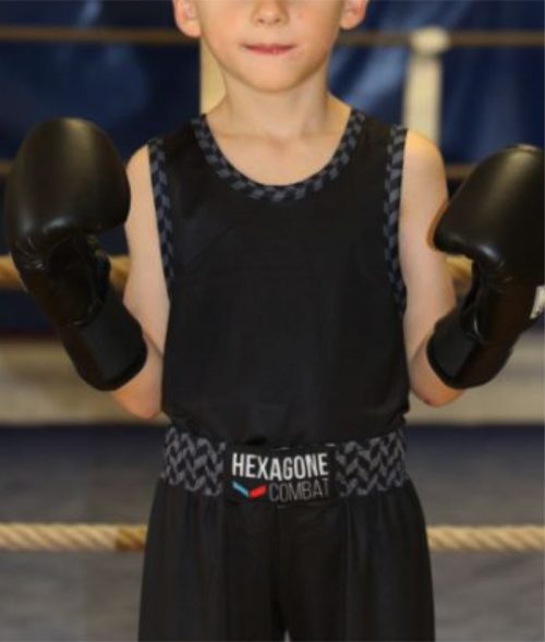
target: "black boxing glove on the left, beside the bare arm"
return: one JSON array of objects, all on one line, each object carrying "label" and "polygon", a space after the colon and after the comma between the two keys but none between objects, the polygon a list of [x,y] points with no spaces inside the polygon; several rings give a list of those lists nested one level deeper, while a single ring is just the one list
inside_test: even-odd
[{"label": "black boxing glove on the left, beside the bare arm", "polygon": [[80,376],[98,390],[128,383],[147,358],[142,328],[110,286],[110,262],[95,237],[123,223],[129,206],[116,148],[77,119],[35,126],[5,185],[5,240],[21,280]]}]

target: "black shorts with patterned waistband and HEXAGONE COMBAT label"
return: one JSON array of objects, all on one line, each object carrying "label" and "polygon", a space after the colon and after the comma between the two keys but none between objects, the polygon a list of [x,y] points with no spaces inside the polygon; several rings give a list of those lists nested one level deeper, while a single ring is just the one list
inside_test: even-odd
[{"label": "black shorts with patterned waistband and HEXAGONE COMBAT label", "polygon": [[287,631],[290,640],[435,640],[403,428],[232,448],[167,429],[138,640],[283,640]]}]

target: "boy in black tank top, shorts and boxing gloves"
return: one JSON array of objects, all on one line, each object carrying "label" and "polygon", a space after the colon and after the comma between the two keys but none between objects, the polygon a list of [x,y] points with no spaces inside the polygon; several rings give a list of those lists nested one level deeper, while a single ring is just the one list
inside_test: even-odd
[{"label": "boy in black tank top, shorts and boxing gloves", "polygon": [[[138,639],[434,640],[425,520],[404,468],[409,390],[441,405],[489,380],[530,325],[542,275],[526,269],[522,286],[509,277],[513,288],[496,291],[475,268],[472,307],[456,307],[429,240],[447,204],[437,147],[327,90],[338,29],[362,22],[366,0],[173,0],[173,9],[182,32],[206,38],[227,93],[130,159],[124,306],[107,289],[107,259],[73,231],[73,219],[92,233],[126,214],[120,163],[97,132],[61,123],[47,134],[62,140],[52,155],[64,158],[53,160],[61,179],[76,171],[74,150],[100,159],[77,169],[93,197],[69,185],[62,226],[49,211],[64,213],[60,203],[47,216],[31,207],[33,225],[56,220],[48,234],[41,225],[40,242],[53,237],[64,266],[96,276],[90,295],[74,277],[61,296],[49,274],[44,284],[41,264],[33,281],[36,263],[25,258],[39,243],[21,250],[20,205],[33,171],[21,161],[7,207],[14,261],[80,374],[134,414],[171,420]],[[37,157],[45,143],[31,143],[23,152]],[[513,201],[538,213],[543,158],[535,171],[533,152],[516,158],[524,185],[502,181],[511,210],[494,214],[506,227]],[[463,223],[484,209],[495,168],[483,165],[479,189],[468,182],[468,202],[443,215],[444,249],[456,239],[479,259],[484,240],[492,246],[491,222],[474,246]],[[100,191],[98,177],[117,183]],[[77,243],[51,232],[66,227]],[[533,252],[538,262],[543,249]],[[513,254],[499,264],[511,267]],[[90,298],[93,313],[74,298]],[[477,316],[495,330],[489,341]],[[509,330],[491,323],[506,318]]]}]

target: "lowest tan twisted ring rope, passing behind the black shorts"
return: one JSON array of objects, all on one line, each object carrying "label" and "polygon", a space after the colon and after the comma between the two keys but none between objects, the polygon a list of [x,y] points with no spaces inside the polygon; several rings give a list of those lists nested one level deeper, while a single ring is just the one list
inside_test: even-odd
[{"label": "lowest tan twisted ring rope, passing behind the black shorts", "polygon": [[[0,524],[0,550],[142,552],[144,524]],[[504,526],[427,526],[432,550],[533,553],[545,549],[545,528],[532,524]]]}]

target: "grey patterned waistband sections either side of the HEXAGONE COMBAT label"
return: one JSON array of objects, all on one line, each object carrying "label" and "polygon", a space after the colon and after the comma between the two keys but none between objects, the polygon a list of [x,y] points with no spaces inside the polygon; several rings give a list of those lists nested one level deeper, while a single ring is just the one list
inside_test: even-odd
[{"label": "grey patterned waistband sections either side of the HEXAGONE COMBAT label", "polygon": [[[404,429],[362,441],[327,443],[335,446],[336,484],[340,497],[368,495],[401,486],[408,479]],[[222,493],[227,441],[206,437],[171,424],[164,443],[159,477],[169,485],[204,495]]]}]

